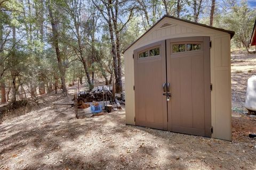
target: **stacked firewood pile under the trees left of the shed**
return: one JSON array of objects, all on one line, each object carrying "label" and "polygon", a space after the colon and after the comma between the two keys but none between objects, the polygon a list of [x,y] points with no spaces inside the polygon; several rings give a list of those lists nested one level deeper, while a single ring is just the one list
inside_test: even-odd
[{"label": "stacked firewood pile under the trees left of the shed", "polygon": [[77,94],[77,101],[79,100],[82,100],[84,103],[103,100],[113,101],[112,90],[107,86],[98,86],[93,88],[92,91],[81,91]]}]

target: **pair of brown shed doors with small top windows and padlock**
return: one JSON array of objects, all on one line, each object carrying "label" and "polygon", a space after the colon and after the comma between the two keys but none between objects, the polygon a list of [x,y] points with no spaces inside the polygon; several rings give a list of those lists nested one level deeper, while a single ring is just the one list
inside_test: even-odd
[{"label": "pair of brown shed doors with small top windows and padlock", "polygon": [[211,136],[209,37],[134,50],[135,125]]}]

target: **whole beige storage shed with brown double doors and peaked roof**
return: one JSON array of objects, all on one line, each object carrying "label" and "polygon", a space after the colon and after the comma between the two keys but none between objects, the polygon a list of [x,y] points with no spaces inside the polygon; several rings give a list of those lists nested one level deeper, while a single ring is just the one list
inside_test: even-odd
[{"label": "whole beige storage shed with brown double doors and peaked roof", "polygon": [[234,33],[164,15],[124,50],[126,124],[230,141]]}]

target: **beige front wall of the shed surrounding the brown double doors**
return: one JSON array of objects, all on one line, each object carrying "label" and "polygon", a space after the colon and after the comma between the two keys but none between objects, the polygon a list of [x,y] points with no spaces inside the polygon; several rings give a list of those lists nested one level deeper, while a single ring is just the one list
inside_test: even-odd
[{"label": "beige front wall of the shed surrounding the brown double doors", "polygon": [[[171,23],[171,25],[160,28],[164,23]],[[211,92],[212,137],[231,140],[230,35],[227,32],[171,18],[164,18],[124,53],[126,124],[135,125],[133,50],[160,40],[194,36],[209,36],[212,41],[210,49],[211,83],[213,85]]]}]

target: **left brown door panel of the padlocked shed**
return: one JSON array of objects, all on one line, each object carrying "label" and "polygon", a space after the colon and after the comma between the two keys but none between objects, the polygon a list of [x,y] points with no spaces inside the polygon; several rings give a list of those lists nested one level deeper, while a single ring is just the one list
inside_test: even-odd
[{"label": "left brown door panel of the padlocked shed", "polygon": [[[156,48],[159,55],[151,51]],[[165,41],[134,51],[134,78],[135,124],[167,130],[167,104],[162,87],[166,81]]]}]

